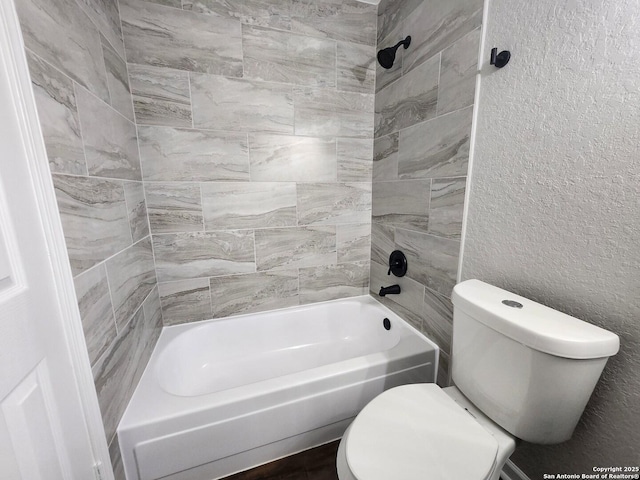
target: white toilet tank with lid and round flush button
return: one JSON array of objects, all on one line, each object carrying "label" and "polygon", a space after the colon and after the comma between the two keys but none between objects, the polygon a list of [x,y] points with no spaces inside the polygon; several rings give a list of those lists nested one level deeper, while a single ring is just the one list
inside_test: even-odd
[{"label": "white toilet tank with lid and round flush button", "polygon": [[455,385],[518,438],[568,440],[618,336],[480,280],[452,301]]}]

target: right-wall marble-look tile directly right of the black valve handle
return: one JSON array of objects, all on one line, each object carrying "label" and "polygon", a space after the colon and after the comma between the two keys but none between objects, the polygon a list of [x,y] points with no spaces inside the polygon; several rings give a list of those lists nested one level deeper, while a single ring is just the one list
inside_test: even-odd
[{"label": "right-wall marble-look tile directly right of the black valve handle", "polygon": [[451,296],[458,272],[460,242],[396,228],[396,245],[407,256],[407,276],[430,289]]}]

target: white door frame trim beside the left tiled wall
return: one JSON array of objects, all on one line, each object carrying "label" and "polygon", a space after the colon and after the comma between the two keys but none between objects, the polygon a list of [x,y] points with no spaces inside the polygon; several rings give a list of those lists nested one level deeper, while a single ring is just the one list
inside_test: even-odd
[{"label": "white door frame trim beside the left tiled wall", "polygon": [[20,140],[27,153],[35,200],[40,211],[40,223],[53,270],[57,307],[62,319],[60,328],[73,363],[72,374],[78,386],[82,414],[89,431],[96,479],[113,480],[109,448],[14,0],[0,0],[0,72],[2,70],[6,72],[16,111],[20,112],[20,118],[17,119]]}]

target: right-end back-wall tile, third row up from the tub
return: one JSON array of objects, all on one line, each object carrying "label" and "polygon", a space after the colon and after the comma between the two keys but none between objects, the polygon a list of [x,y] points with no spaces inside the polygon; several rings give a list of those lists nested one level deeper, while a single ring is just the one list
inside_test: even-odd
[{"label": "right-end back-wall tile, third row up from the tub", "polygon": [[298,184],[299,225],[367,223],[370,218],[370,183]]}]

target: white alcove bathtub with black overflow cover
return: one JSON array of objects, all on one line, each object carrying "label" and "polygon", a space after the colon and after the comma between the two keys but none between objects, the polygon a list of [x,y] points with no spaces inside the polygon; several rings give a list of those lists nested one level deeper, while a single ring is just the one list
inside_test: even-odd
[{"label": "white alcove bathtub with black overflow cover", "polygon": [[437,362],[369,296],[167,327],[118,427],[127,479],[211,480],[335,440]]}]

